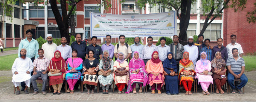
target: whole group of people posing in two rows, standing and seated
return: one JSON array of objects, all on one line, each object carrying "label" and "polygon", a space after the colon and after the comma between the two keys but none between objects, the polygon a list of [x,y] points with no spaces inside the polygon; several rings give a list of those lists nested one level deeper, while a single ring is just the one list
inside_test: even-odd
[{"label": "whole group of people posing in two rows, standing and seated", "polygon": [[[222,46],[222,38],[218,38],[218,46],[210,47],[210,40],[203,43],[203,36],[198,36],[199,46],[193,43],[193,37],[188,38],[186,46],[178,43],[178,36],[173,36],[173,43],[166,45],[165,37],[160,38],[161,44],[155,46],[153,38],[148,37],[145,46],[140,44],[140,37],[134,37],[131,46],[125,43],[125,35],[119,36],[119,44],[111,44],[111,35],[106,35],[106,43],[97,45],[98,38],[91,37],[91,43],[86,46],[81,41],[81,35],[76,34],[76,41],[67,45],[66,38],[61,38],[61,45],[56,46],[52,42],[52,35],[47,34],[47,43],[39,49],[37,40],[32,38],[33,32],[26,31],[27,37],[21,40],[19,45],[19,58],[15,59],[12,66],[12,82],[17,88],[16,94],[24,90],[28,94],[27,87],[32,83],[34,93],[38,93],[36,80],[43,80],[42,93],[46,94],[46,85],[49,79],[53,87],[53,95],[61,94],[62,83],[67,81],[67,92],[74,93],[78,80],[82,80],[87,88],[87,94],[93,94],[95,86],[103,89],[103,94],[108,94],[112,81],[118,89],[118,93],[137,93],[136,84],[139,85],[138,93],[142,93],[142,86],[151,86],[151,93],[158,94],[165,86],[168,95],[177,95],[178,86],[184,86],[186,95],[190,95],[192,83],[195,79],[201,85],[204,95],[209,95],[208,87],[213,81],[217,89],[216,93],[223,94],[221,89],[228,78],[232,87],[242,93],[241,87],[247,83],[247,77],[243,74],[245,69],[242,59],[242,48],[231,35],[232,43]],[[232,56],[229,50],[231,49]],[[200,52],[200,53],[198,53]],[[238,55],[240,54],[240,55]],[[113,57],[115,56],[115,61]],[[209,57],[210,56],[210,57]],[[229,70],[226,76],[226,66]],[[31,76],[32,75],[32,76]],[[49,76],[49,78],[48,78]],[[238,86],[233,84],[235,78],[240,78]],[[80,83],[80,82],[79,82]],[[19,85],[22,89],[19,89]],[[123,90],[127,86],[127,90]],[[82,86],[81,86],[82,87]],[[97,86],[99,87],[99,86]]]}]

